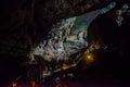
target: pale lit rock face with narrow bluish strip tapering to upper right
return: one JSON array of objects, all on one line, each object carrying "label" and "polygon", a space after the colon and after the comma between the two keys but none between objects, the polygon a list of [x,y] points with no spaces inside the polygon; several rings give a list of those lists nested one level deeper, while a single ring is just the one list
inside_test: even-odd
[{"label": "pale lit rock face with narrow bluish strip tapering to upper right", "polygon": [[[51,32],[36,49],[35,54],[42,55],[47,59],[68,59],[72,54],[89,46],[88,27],[98,16],[107,13],[116,7],[116,2],[66,20],[61,20],[53,24]],[[94,35],[93,35],[94,36]]]}]

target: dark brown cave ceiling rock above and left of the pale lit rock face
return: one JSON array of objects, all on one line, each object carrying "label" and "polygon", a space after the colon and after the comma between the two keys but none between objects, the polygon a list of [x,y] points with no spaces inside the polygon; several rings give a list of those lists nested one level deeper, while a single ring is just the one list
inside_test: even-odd
[{"label": "dark brown cave ceiling rock above and left of the pale lit rock face", "polygon": [[105,4],[103,0],[3,0],[0,3],[0,50],[3,53],[26,54],[44,39],[52,24],[61,18],[101,8],[99,4]]}]

